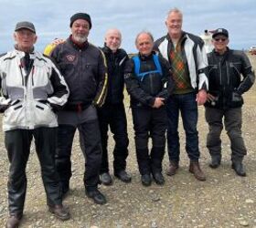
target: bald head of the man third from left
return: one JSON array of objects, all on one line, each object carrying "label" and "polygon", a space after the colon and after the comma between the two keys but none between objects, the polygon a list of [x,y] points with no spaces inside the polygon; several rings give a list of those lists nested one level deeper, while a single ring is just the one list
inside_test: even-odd
[{"label": "bald head of the man third from left", "polygon": [[109,47],[112,52],[116,52],[121,46],[122,34],[117,28],[108,29],[105,35],[105,45]]}]

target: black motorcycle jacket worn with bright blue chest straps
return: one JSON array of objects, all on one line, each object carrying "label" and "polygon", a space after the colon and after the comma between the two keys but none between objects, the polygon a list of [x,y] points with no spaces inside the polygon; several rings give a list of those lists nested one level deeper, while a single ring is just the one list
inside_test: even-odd
[{"label": "black motorcycle jacket worn with bright blue chest straps", "polygon": [[[140,59],[140,73],[155,71],[154,55],[145,57],[138,55]],[[152,107],[155,98],[167,99],[173,88],[174,82],[171,74],[169,63],[159,57],[163,75],[159,73],[149,73],[144,78],[138,78],[135,74],[135,66],[133,58],[127,61],[124,70],[124,81],[128,93],[131,95],[131,107]]]}]

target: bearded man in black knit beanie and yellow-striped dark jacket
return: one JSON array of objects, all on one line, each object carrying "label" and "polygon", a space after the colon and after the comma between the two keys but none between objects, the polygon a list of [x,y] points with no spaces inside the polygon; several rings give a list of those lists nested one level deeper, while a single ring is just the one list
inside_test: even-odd
[{"label": "bearded man in black knit beanie and yellow-striped dark jacket", "polygon": [[98,190],[101,169],[101,132],[96,107],[106,97],[107,71],[104,55],[88,42],[91,17],[77,13],[70,17],[71,35],[50,53],[69,86],[69,100],[58,113],[58,148],[56,165],[62,186],[62,197],[69,192],[71,149],[75,131],[80,132],[80,148],[85,157],[84,186],[95,203],[106,202]]}]

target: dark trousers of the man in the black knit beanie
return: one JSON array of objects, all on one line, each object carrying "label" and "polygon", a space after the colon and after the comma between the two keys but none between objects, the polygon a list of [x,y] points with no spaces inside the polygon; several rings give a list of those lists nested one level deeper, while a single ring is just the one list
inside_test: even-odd
[{"label": "dark trousers of the man in the black knit beanie", "polygon": [[97,188],[101,169],[101,133],[98,119],[81,123],[78,127],[59,124],[56,165],[59,172],[62,191],[69,189],[71,173],[71,150],[75,131],[80,133],[80,148],[85,157],[84,185]]}]

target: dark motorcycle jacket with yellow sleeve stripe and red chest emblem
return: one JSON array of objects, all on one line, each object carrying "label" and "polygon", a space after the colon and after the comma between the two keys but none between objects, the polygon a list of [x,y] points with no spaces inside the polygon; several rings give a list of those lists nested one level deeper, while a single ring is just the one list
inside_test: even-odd
[{"label": "dark motorcycle jacket with yellow sleeve stripe and red chest emblem", "polygon": [[79,47],[69,36],[66,42],[53,49],[50,57],[57,63],[69,86],[66,107],[76,104],[101,107],[106,97],[108,75],[105,57],[100,48],[88,41],[83,47]]}]

